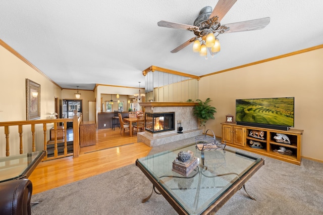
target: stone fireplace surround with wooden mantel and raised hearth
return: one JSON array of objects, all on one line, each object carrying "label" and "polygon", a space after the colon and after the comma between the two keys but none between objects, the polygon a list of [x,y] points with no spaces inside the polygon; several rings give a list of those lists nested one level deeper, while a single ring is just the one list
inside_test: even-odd
[{"label": "stone fireplace surround with wooden mantel and raised hearth", "polygon": [[[196,102],[141,102],[145,107],[145,113],[175,112],[175,130],[152,133],[149,131],[138,132],[137,142],[143,142],[153,147],[166,143],[187,139],[200,134],[198,120],[193,116],[193,108]],[[177,133],[178,124],[181,121],[183,133]]]}]

